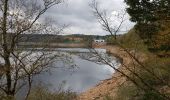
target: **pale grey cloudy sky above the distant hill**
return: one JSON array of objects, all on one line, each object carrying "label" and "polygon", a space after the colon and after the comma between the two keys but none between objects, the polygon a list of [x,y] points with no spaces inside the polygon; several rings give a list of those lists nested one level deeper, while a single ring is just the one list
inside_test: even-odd
[{"label": "pale grey cloudy sky above the distant hill", "polygon": [[[102,9],[107,9],[108,12],[121,12],[126,5],[123,0],[97,0]],[[53,18],[57,24],[67,24],[69,27],[64,31],[65,34],[109,34],[102,30],[100,24],[94,17],[89,4],[92,0],[67,0],[61,5],[57,5],[48,10],[46,17]],[[118,21],[113,20],[113,26],[117,25]],[[122,31],[127,31],[132,28],[134,23],[130,21],[124,22]]]}]

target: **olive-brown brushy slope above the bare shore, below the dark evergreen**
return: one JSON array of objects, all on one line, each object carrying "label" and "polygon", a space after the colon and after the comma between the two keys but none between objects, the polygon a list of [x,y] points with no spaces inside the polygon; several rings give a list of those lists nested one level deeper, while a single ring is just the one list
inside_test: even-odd
[{"label": "olive-brown brushy slope above the bare shore, below the dark evergreen", "polygon": [[[170,83],[170,57],[159,57],[155,53],[148,50],[148,46],[144,41],[135,33],[135,30],[130,30],[127,34],[121,36],[117,40],[124,48],[128,50],[135,50],[147,55],[147,59],[142,64],[157,77],[164,80],[158,80],[153,75],[143,70],[139,65],[136,65],[136,73],[151,87],[161,90],[163,87]],[[132,74],[132,73],[131,73]],[[142,87],[147,88],[137,77],[129,74],[137,83]],[[165,100],[159,94],[152,90],[141,90],[133,85],[131,82],[126,82],[119,87],[116,99],[113,100]],[[167,90],[167,89],[166,89]],[[170,89],[169,89],[170,90]],[[166,91],[164,91],[166,92]],[[165,93],[168,94],[168,93]],[[169,95],[169,94],[168,94]],[[112,100],[106,96],[106,100]]]}]

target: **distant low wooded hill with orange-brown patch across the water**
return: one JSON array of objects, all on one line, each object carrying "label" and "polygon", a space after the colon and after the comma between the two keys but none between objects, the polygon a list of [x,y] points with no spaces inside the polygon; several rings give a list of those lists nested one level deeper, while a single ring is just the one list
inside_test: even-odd
[{"label": "distant low wooded hill with orange-brown patch across the water", "polygon": [[[7,39],[12,40],[13,34],[8,34]],[[55,35],[55,34],[21,34],[18,36],[18,41],[22,43],[86,43],[90,44],[93,39],[102,38],[106,36],[99,35]],[[1,37],[0,37],[1,39]]]}]

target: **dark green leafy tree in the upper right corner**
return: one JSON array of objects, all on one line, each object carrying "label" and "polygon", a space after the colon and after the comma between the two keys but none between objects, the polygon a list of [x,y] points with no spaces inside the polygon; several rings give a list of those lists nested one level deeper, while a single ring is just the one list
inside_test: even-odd
[{"label": "dark green leafy tree in the upper right corner", "polygon": [[[162,37],[160,31],[167,28],[166,23],[169,23],[170,20],[169,0],[124,1],[128,5],[127,12],[131,16],[130,20],[137,23],[135,27],[138,30],[137,33],[149,47],[161,48],[162,45],[169,43],[168,41],[160,40]],[[164,44],[162,44],[163,42]]]}]

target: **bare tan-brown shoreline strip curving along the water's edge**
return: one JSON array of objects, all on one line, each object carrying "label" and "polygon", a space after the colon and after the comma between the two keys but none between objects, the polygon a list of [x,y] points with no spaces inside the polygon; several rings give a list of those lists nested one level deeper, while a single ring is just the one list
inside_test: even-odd
[{"label": "bare tan-brown shoreline strip curving along the water's edge", "polygon": [[[102,46],[100,48],[105,48],[108,52],[113,54],[113,56],[119,56],[122,58],[123,63],[127,66],[132,64],[131,58],[128,54],[117,46]],[[125,73],[128,73],[125,68],[122,66],[119,67]],[[116,91],[118,86],[123,84],[126,81],[126,78],[123,77],[120,73],[116,72],[113,74],[113,77],[108,80],[104,80],[96,87],[80,94],[78,100],[103,100],[105,96],[111,96],[112,98],[116,97]]]}]

